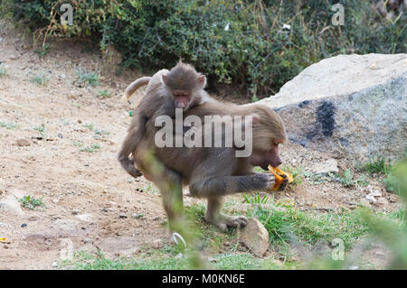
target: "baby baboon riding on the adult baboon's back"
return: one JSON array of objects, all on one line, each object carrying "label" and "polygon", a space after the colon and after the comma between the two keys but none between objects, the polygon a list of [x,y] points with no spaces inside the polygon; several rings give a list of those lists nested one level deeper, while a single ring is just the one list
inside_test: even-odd
[{"label": "baby baboon riding on the adult baboon's back", "polygon": [[147,121],[154,123],[157,116],[174,117],[175,108],[186,111],[211,100],[204,91],[205,76],[182,61],[169,71],[159,70],[152,78],[137,79],[126,88],[125,98],[130,98],[137,88],[147,83],[146,95],[137,106],[128,135],[118,153],[118,161],[126,172],[135,178],[141,173],[134,166],[134,160],[128,156],[136,150],[137,144],[143,138]]}]

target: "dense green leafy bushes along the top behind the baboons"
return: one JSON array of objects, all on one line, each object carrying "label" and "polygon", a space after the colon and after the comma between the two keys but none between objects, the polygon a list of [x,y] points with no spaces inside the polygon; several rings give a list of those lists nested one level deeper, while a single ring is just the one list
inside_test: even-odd
[{"label": "dense green leafy bushes along the top behind the baboons", "polygon": [[[59,7],[70,2],[73,25],[64,26]],[[172,67],[182,58],[206,73],[212,86],[234,83],[251,96],[266,96],[308,65],[336,54],[406,50],[404,14],[387,19],[368,0],[344,0],[345,25],[333,26],[336,3],[4,0],[2,11],[43,44],[50,35],[86,37],[102,50],[113,44],[123,65],[149,69]]]}]

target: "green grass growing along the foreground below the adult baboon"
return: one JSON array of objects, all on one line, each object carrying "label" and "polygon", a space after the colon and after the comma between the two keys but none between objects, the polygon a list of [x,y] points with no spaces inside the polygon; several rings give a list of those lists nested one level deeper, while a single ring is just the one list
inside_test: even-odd
[{"label": "green grass growing along the foreground below the adult baboon", "polygon": [[[342,239],[345,253],[348,253],[356,244],[370,239],[374,229],[379,228],[384,239],[397,245],[398,249],[401,245],[405,246],[404,237],[400,234],[407,228],[405,209],[389,214],[374,213],[364,208],[321,213],[298,210],[293,202],[277,201],[274,204],[279,209],[266,209],[253,204],[247,215],[258,218],[269,231],[270,250],[274,253],[266,258],[241,252],[237,232],[222,233],[213,228],[204,220],[204,205],[194,204],[185,208],[185,218],[192,224],[191,230],[197,239],[194,247],[189,246],[184,250],[175,245],[165,245],[160,249],[145,246],[136,257],[114,258],[107,258],[102,251],[95,254],[80,251],[74,254],[72,260],[66,260],[60,266],[83,270],[194,269],[198,253],[201,255],[200,266],[208,269],[347,269],[346,258],[345,261],[333,261],[331,257],[333,239]],[[374,226],[374,223],[378,225]],[[386,237],[389,233],[390,236]],[[393,241],[394,237],[399,236],[399,240]],[[314,247],[325,246],[327,251],[323,255],[316,253],[301,260],[293,257],[293,245],[308,247],[310,251]],[[274,258],[276,253],[282,261]],[[395,267],[403,267],[403,263]]]}]

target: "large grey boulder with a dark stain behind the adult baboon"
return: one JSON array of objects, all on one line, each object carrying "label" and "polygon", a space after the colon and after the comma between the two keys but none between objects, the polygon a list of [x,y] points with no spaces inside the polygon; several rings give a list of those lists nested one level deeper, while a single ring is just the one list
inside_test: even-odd
[{"label": "large grey boulder with a dark stain behind the adult baboon", "polygon": [[289,139],[354,163],[400,159],[407,146],[407,54],[339,55],[303,70],[262,99]]}]

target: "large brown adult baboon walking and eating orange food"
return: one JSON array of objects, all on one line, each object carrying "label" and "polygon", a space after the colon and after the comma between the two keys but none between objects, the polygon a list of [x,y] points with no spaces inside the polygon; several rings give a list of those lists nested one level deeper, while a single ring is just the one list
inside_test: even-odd
[{"label": "large brown adult baboon walking and eating orange food", "polygon": [[246,224],[246,218],[243,216],[228,216],[221,213],[222,199],[225,195],[271,190],[274,186],[273,174],[253,172],[253,168],[260,166],[267,169],[269,163],[274,167],[281,163],[278,146],[286,141],[287,136],[277,113],[269,107],[260,105],[240,107],[208,102],[184,114],[185,117],[198,116],[201,119],[211,115],[252,116],[252,153],[249,157],[237,157],[236,151],[240,148],[235,145],[155,147],[153,151],[155,159],[164,165],[164,169],[156,172],[148,161],[150,155],[145,157],[148,154],[146,152],[155,146],[157,128],[154,122],[147,123],[146,135],[134,153],[137,167],[154,181],[161,191],[170,228],[174,227],[177,218],[182,217],[182,212],[175,209],[174,203],[182,204],[183,185],[189,185],[192,196],[208,200],[205,218],[223,231]]}]

